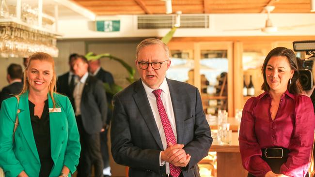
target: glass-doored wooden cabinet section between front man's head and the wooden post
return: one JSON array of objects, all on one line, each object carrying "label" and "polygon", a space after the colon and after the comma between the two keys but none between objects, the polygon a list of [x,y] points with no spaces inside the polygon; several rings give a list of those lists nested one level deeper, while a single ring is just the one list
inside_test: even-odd
[{"label": "glass-doored wooden cabinet section between front man's head and the wooden post", "polygon": [[[215,114],[218,109],[225,109],[229,115],[233,116],[233,43],[171,42],[168,46],[172,59],[176,63],[172,66],[172,61],[166,76],[197,87],[202,96],[205,113]],[[180,66],[177,64],[178,59],[175,58],[178,56],[189,57],[183,59]],[[175,77],[174,71],[181,72],[180,75],[184,77]],[[205,84],[206,81],[209,82],[208,85]],[[209,102],[214,105],[210,105]]]}]

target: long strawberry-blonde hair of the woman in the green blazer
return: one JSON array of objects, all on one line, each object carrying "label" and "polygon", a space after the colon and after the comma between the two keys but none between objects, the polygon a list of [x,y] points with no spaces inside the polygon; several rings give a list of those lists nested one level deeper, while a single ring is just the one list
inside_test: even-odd
[{"label": "long strawberry-blonde hair of the woman in the green blazer", "polygon": [[52,103],[53,103],[53,108],[56,107],[56,102],[55,102],[55,99],[53,97],[53,93],[57,92],[56,91],[56,80],[57,80],[57,76],[56,76],[56,73],[55,73],[55,61],[54,59],[47,53],[43,53],[43,52],[36,52],[34,54],[32,54],[30,56],[30,60],[28,62],[28,65],[26,66],[25,68],[25,71],[24,71],[24,78],[23,78],[23,89],[22,91],[17,95],[17,96],[20,96],[22,95],[23,93],[27,92],[30,88],[30,84],[27,80],[27,71],[29,70],[29,66],[31,64],[31,61],[33,60],[40,60],[40,61],[48,61],[49,63],[51,63],[52,65],[52,71],[53,71],[53,76],[52,76],[52,79],[51,79],[51,82],[48,86],[48,93],[50,94],[51,96],[51,99],[52,99]]}]

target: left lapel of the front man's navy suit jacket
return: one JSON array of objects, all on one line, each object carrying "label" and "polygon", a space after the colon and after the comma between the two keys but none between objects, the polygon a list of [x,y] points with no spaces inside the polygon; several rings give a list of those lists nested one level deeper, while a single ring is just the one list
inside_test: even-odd
[{"label": "left lapel of the front man's navy suit jacket", "polygon": [[145,90],[142,86],[141,80],[137,81],[133,98],[152,136],[156,140],[159,148],[162,150],[163,144],[161,141],[161,137],[160,137],[160,134],[158,133],[157,124],[155,123],[155,119],[154,119],[154,116],[150,107],[150,103],[146,96]]}]

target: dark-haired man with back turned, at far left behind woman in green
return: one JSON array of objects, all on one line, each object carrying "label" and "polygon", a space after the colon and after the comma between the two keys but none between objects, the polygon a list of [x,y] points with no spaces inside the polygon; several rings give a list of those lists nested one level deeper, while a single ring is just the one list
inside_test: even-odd
[{"label": "dark-haired man with back turned, at far left behind woman in green", "polygon": [[7,81],[10,85],[2,88],[0,93],[0,108],[3,100],[17,95],[23,88],[22,83],[23,70],[19,64],[10,64],[7,69]]}]

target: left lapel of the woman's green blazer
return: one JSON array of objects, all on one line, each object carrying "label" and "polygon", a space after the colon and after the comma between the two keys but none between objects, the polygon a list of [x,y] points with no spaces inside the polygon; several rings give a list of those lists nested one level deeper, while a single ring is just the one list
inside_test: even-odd
[{"label": "left lapel of the woman's green blazer", "polygon": [[34,154],[38,162],[40,162],[34,135],[33,135],[33,129],[31,126],[29,92],[26,92],[20,96],[18,109],[20,109],[21,111],[20,113],[18,113],[18,120],[19,120],[18,126],[20,126],[22,130],[21,132],[23,133],[27,144],[30,146],[32,153]]}]

